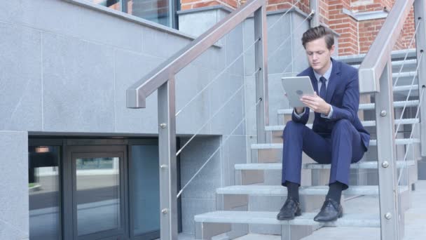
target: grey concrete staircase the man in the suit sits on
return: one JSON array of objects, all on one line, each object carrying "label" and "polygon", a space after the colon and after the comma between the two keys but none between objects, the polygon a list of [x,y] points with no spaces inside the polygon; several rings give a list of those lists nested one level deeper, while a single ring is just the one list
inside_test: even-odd
[{"label": "grey concrete staircase the man in the suit sits on", "polygon": [[[408,111],[404,119],[399,120],[401,108],[418,106],[418,86],[411,85],[415,74],[416,60],[415,51],[409,51],[407,61],[399,73],[406,51],[394,51],[392,53],[392,72],[394,81],[398,84],[394,88],[395,124],[401,124],[400,130],[411,130],[410,124],[419,122],[413,119]],[[337,58],[354,67],[364,55],[352,55]],[[413,88],[411,98],[404,102],[410,88]],[[343,198],[356,196],[378,196],[378,163],[376,154],[377,142],[374,140],[376,132],[376,121],[374,121],[374,98],[370,95],[362,96],[359,105],[359,116],[362,124],[371,133],[370,149],[364,155],[364,159],[357,164],[352,164],[350,174],[350,188],[343,192]],[[378,213],[371,211],[359,213],[345,213],[343,218],[336,222],[327,224],[313,221],[322,206],[324,196],[328,191],[329,164],[316,164],[315,161],[303,154],[301,207],[303,214],[291,221],[279,221],[276,219],[277,212],[284,203],[287,189],[280,185],[282,156],[282,130],[284,124],[291,119],[292,109],[280,109],[277,117],[282,125],[266,126],[268,139],[267,144],[253,144],[252,159],[247,164],[235,165],[234,186],[221,187],[217,189],[217,211],[195,215],[195,239],[234,239],[250,232],[257,234],[279,234],[282,239],[297,240],[312,234],[313,231],[324,226],[334,227],[380,227]],[[415,112],[415,111],[414,111]],[[311,113],[312,114],[312,113]],[[310,116],[310,123],[313,115]],[[308,126],[312,124],[308,123]],[[396,144],[398,160],[404,159],[405,147],[413,144],[408,154],[408,161],[398,161],[397,168],[402,174],[399,194],[399,203],[402,211],[410,206],[409,194],[417,180],[417,160],[420,159],[420,139],[408,139],[406,133],[399,133]],[[402,157],[401,157],[402,156]],[[345,208],[345,201],[342,201]],[[376,208],[379,208],[377,205]]]}]

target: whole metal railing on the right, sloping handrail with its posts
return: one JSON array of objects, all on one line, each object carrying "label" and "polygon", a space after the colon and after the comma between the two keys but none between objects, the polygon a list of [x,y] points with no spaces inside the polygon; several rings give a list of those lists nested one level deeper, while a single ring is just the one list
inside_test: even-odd
[{"label": "whole metal railing on the right, sloping handrail with its posts", "polygon": [[[424,0],[397,0],[380,29],[376,40],[359,67],[360,93],[374,93],[376,95],[376,130],[378,151],[379,175],[379,204],[381,239],[401,239],[404,232],[404,214],[399,206],[399,179],[397,178],[397,155],[395,146],[394,107],[391,52],[399,39],[399,33],[404,26],[411,7],[414,4],[415,20],[421,21],[416,27],[415,45],[418,58],[418,87],[419,93],[426,85],[426,62],[422,59],[425,47],[425,1]],[[418,28],[418,29],[417,29]],[[420,102],[425,98],[419,94]],[[426,117],[420,111],[420,119]],[[422,155],[425,156],[426,129],[425,123],[420,121]],[[411,135],[412,136],[412,135]],[[390,150],[391,149],[391,150]],[[408,150],[408,149],[407,149]]]}]

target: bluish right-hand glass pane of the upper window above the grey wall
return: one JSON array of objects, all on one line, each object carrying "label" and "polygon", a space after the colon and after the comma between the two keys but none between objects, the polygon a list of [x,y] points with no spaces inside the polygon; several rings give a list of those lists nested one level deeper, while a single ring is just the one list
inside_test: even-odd
[{"label": "bluish right-hand glass pane of the upper window above the grey wall", "polygon": [[128,13],[160,25],[170,26],[169,0],[129,0]]}]

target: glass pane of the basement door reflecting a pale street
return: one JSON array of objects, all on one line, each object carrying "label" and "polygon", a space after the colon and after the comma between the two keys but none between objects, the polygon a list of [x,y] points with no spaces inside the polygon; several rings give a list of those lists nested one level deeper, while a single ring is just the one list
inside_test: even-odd
[{"label": "glass pane of the basement door reflecting a pale street", "polygon": [[121,227],[118,157],[76,159],[78,236]]}]

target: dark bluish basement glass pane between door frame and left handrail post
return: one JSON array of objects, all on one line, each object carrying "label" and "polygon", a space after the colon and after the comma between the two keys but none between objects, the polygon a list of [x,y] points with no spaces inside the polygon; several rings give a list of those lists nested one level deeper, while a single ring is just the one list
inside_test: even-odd
[{"label": "dark bluish basement glass pane between door frame and left handrail post", "polygon": [[158,145],[132,146],[130,159],[135,236],[160,229],[160,173]]}]

